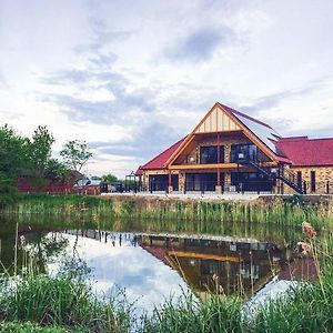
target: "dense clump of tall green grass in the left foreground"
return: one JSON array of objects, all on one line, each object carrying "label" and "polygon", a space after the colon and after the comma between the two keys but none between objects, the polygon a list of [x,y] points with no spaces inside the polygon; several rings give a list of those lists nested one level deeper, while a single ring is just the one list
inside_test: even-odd
[{"label": "dense clump of tall green grass in the left foreground", "polygon": [[99,301],[81,280],[28,274],[18,280],[14,292],[3,291],[0,320],[6,322],[77,327],[81,332],[129,332],[128,305],[115,299]]}]

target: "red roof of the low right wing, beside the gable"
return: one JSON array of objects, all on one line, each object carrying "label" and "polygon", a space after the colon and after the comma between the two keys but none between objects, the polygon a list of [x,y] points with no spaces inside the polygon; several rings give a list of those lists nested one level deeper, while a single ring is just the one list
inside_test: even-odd
[{"label": "red roof of the low right wing, beside the gable", "polygon": [[333,165],[333,138],[282,138],[275,144],[292,161],[292,165]]}]

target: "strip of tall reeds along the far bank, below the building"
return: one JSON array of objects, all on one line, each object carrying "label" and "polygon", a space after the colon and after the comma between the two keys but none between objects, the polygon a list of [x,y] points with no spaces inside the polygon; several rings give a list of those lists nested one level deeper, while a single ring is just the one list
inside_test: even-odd
[{"label": "strip of tall reeds along the far bank, below the building", "polygon": [[2,214],[50,214],[154,219],[159,221],[258,222],[300,225],[304,220],[317,228],[333,228],[333,200],[310,201],[302,196],[260,198],[253,201],[176,200],[154,196],[23,195]]}]

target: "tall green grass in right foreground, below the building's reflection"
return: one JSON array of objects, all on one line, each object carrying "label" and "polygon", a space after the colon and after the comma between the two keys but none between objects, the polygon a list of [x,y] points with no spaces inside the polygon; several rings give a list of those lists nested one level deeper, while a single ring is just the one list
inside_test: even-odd
[{"label": "tall green grass in right foreground, below the building's reflection", "polygon": [[252,320],[242,315],[239,299],[212,296],[206,301],[188,297],[180,305],[167,303],[144,322],[144,333],[303,333],[333,332],[333,279],[324,276],[291,291],[287,296],[260,309]]}]

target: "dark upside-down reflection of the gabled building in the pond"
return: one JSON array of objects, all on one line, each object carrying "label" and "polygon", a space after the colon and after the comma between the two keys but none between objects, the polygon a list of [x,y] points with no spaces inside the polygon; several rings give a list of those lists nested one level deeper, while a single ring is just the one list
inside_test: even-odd
[{"label": "dark upside-down reflection of the gabled building in the pond", "polygon": [[285,259],[275,244],[255,240],[141,235],[139,244],[196,291],[254,292],[276,274]]}]

